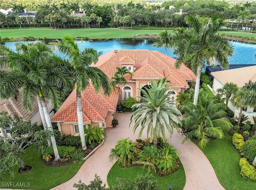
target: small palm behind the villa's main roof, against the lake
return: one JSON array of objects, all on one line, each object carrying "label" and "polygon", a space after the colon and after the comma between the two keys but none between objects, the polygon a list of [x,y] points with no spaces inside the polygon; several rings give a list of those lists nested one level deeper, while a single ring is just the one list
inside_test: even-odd
[{"label": "small palm behind the villa's main roof, against the lake", "polygon": [[160,32],[159,38],[156,42],[153,43],[153,47],[156,46],[157,48],[165,48],[165,53],[167,55],[167,48],[172,48],[172,36],[165,30],[164,32]]}]

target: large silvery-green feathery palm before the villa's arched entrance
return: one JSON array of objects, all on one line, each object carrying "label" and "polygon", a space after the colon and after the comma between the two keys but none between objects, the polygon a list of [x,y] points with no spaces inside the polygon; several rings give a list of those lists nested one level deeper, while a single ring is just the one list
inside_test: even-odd
[{"label": "large silvery-green feathery palm before the villa's arched entrance", "polygon": [[165,127],[167,128],[170,137],[172,136],[173,127],[178,128],[181,125],[178,115],[180,111],[174,106],[173,100],[168,99],[169,94],[165,94],[169,89],[166,85],[166,79],[158,79],[158,82],[151,79],[152,87],[145,91],[140,89],[144,96],[138,96],[144,103],[137,103],[132,108],[137,108],[131,115],[130,125],[135,121],[133,132],[140,126],[138,138],[142,136],[144,128],[147,129],[147,137],[157,144],[157,137],[166,137]]}]

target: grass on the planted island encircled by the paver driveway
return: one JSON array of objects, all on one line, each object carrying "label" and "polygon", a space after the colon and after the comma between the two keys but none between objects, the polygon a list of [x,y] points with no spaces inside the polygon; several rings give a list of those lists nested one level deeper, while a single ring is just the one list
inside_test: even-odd
[{"label": "grass on the planted island encircled by the paver driveway", "polygon": [[[118,167],[118,162],[116,162],[108,172],[108,176],[107,176],[108,186],[117,185],[118,183],[116,182],[116,179],[118,177],[135,180],[138,176],[146,175],[147,172],[148,170],[146,168],[143,168],[142,166],[120,168]],[[158,183],[159,190],[168,189],[169,183],[172,184],[172,189],[175,189],[175,190],[182,190],[185,186],[186,176],[185,176],[185,172],[182,164],[180,164],[180,168],[177,171],[175,171],[174,173],[168,176],[159,177],[156,175],[156,173],[152,171],[150,173],[152,173],[155,179],[158,181],[157,183]]]}]

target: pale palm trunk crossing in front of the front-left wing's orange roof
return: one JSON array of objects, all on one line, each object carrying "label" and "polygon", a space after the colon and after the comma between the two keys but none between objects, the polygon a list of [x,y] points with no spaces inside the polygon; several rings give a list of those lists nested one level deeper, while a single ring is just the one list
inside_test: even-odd
[{"label": "pale palm trunk crossing in front of the front-left wing's orange roof", "polygon": [[83,122],[83,116],[82,116],[82,106],[81,106],[81,93],[76,93],[76,111],[77,111],[77,120],[78,120],[78,128],[80,133],[80,138],[82,142],[82,149],[86,150],[86,143],[85,143],[85,137],[84,137],[84,122]]}]

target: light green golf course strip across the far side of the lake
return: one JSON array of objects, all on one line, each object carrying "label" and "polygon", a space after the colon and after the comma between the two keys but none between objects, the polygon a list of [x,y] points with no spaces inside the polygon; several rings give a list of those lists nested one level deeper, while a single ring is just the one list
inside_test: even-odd
[{"label": "light green golf course strip across the far side of the lake", "polygon": [[[118,29],[64,29],[64,30],[50,30],[46,28],[42,29],[1,29],[0,36],[2,38],[23,38],[23,36],[32,36],[34,38],[48,38],[48,39],[60,39],[65,34],[70,34],[73,37],[87,37],[91,39],[114,39],[114,38],[131,38],[137,34],[159,34],[161,30],[118,30]],[[219,32],[220,34],[254,37],[256,34],[246,32]]]}]

